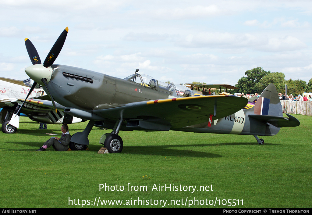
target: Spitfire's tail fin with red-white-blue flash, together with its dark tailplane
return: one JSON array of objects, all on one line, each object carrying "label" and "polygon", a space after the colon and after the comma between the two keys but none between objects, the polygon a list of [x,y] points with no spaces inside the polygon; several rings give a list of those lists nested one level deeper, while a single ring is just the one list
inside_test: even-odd
[{"label": "Spitfire's tail fin with red-white-blue flash, together with its dark tailplane", "polygon": [[252,109],[254,113],[249,113],[250,118],[264,123],[270,123],[277,128],[300,125],[299,120],[289,114],[286,114],[288,117],[283,117],[283,108],[280,104],[280,98],[272,83],[264,89],[254,108],[251,108],[250,111],[252,111]]}]

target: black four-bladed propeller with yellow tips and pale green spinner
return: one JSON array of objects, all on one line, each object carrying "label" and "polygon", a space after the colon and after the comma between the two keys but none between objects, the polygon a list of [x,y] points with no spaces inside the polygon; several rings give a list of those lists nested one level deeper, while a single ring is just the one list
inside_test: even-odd
[{"label": "black four-bladed propeller with yellow tips and pale green spinner", "polygon": [[[28,38],[25,39],[25,46],[27,49],[27,53],[28,53],[29,58],[32,61],[32,65],[33,65],[30,67],[27,67],[25,69],[25,72],[27,73],[27,75],[30,78],[32,78],[32,80],[34,80],[34,83],[32,84],[32,87],[30,88],[29,93],[27,94],[24,102],[22,103],[22,106],[18,109],[16,115],[18,115],[20,113],[24,103],[26,102],[27,98],[29,97],[29,95],[32,93],[32,91],[36,87],[37,83],[40,83],[46,87],[46,89],[47,89],[46,92],[49,95],[49,97],[51,98],[53,107],[55,108],[55,111],[57,112],[54,99],[50,93],[50,90],[48,88],[47,83],[49,82],[49,80],[51,78],[51,74],[49,75],[49,73],[51,73],[51,65],[54,63],[57,56],[60,54],[60,52],[62,50],[62,47],[63,47],[64,42],[66,40],[67,32],[68,32],[68,27],[66,27],[65,30],[61,33],[61,35],[57,38],[57,40],[54,43],[53,47],[51,48],[50,52],[46,56],[46,59],[43,62],[43,64],[41,64],[41,60],[40,60],[39,54],[38,54],[35,46],[32,44],[32,42]],[[48,68],[48,69],[42,68],[42,66],[39,66],[39,65],[34,66],[35,64],[41,64],[43,67]],[[49,77],[48,80],[47,80],[47,77]]]}]

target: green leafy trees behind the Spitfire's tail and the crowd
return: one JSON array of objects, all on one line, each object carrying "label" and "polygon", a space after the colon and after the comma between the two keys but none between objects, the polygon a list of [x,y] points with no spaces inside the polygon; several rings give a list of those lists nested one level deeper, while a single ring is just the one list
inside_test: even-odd
[{"label": "green leafy trees behind the Spitfire's tail and the crowd", "polygon": [[267,85],[273,83],[279,93],[285,93],[285,84],[287,85],[287,94],[298,95],[303,92],[312,92],[312,78],[307,84],[303,80],[285,80],[285,74],[281,72],[271,73],[264,71],[261,67],[253,68],[245,72],[247,77],[238,80],[236,90],[228,90],[228,93],[261,94]]}]

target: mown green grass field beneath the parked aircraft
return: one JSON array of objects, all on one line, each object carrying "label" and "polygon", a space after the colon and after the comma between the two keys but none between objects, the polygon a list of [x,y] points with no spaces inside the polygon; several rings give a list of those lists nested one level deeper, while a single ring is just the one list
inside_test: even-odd
[{"label": "mown green grass field beneath the parked aircraft", "polygon": [[[160,200],[167,200],[166,208],[188,208],[191,201],[190,207],[195,208],[311,208],[312,117],[295,117],[300,126],[259,137],[264,145],[244,135],[121,131],[124,149],[117,154],[97,154],[100,137],[110,130],[95,127],[89,135],[89,150],[35,151],[51,137],[42,132],[60,136],[61,125],[37,130],[38,123],[22,117],[16,134],[0,133],[0,207],[80,208],[85,203],[83,208],[161,208]],[[69,131],[82,131],[86,124],[69,125]],[[105,183],[124,190],[100,191]],[[128,191],[128,183],[137,187]],[[182,191],[180,187],[178,191],[153,189],[165,184],[182,185]],[[211,185],[208,191],[199,189]],[[195,191],[183,191],[188,186],[196,186]],[[123,202],[101,205],[114,199]],[[227,206],[229,199],[236,206]]]}]

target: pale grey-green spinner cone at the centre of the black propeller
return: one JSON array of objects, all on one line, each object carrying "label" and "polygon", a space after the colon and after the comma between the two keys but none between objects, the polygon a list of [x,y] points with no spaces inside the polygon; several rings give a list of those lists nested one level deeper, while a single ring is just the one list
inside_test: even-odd
[{"label": "pale grey-green spinner cone at the centre of the black propeller", "polygon": [[35,82],[44,85],[41,81],[42,78],[46,78],[46,83],[49,83],[52,75],[51,67],[44,67],[42,64],[35,64],[25,69],[26,74]]}]

